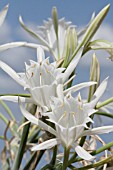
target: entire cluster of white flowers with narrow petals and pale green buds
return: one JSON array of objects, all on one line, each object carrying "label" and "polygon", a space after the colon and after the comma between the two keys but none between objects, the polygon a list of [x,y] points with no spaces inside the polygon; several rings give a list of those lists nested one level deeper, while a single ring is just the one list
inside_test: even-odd
[{"label": "entire cluster of white flowers with narrow petals and pale green buds", "polygon": [[[1,50],[17,46],[29,46],[37,49],[37,61],[30,60],[30,65],[25,63],[24,73],[16,73],[10,66],[0,61],[0,68],[28,92],[27,97],[24,94],[21,96],[19,94],[3,95],[0,100],[19,103],[23,116],[29,122],[37,125],[40,131],[45,132],[41,133],[40,137],[43,142],[33,146],[32,151],[46,150],[56,145],[59,146],[59,144],[62,145],[64,148],[63,170],[68,165],[70,166],[68,163],[70,149],[80,159],[89,162],[95,159],[85,149],[84,137],[113,131],[113,126],[93,128],[94,114],[100,108],[106,111],[102,106],[112,102],[110,100],[103,105],[99,103],[106,90],[108,78],[100,83],[100,69],[96,56],[91,66],[90,81],[76,85],[72,83],[76,67],[87,51],[99,48],[108,51],[109,46],[112,49],[110,42],[103,43],[100,40],[90,42],[108,9],[109,5],[96,17],[93,16],[88,26],[79,33],[71,22],[66,22],[64,18],[58,20],[56,8],[52,10],[52,19],[44,21],[44,26],[38,27],[37,33],[27,28],[20,17],[21,26],[35,36],[41,44],[15,42],[0,47]],[[6,11],[5,14],[2,14],[2,19],[0,18],[1,23],[5,15]],[[50,57],[45,57],[44,50],[50,52],[54,59],[53,62]],[[80,90],[86,87],[89,88],[89,98],[82,99]],[[44,138],[44,136],[46,137]],[[81,144],[80,141],[83,139],[84,142]],[[17,167],[16,165],[17,163],[13,167]]]}]

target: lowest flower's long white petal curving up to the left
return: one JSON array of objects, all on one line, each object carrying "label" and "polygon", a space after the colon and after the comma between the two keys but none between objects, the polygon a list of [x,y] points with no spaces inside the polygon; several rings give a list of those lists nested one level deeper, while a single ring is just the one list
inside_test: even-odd
[{"label": "lowest flower's long white petal curving up to the left", "polygon": [[28,119],[31,123],[38,125],[40,128],[43,128],[44,130],[57,136],[56,131],[52,127],[48,126],[46,123],[42,122],[40,119],[37,119],[35,116],[33,116],[31,113],[29,113],[25,109],[25,107],[21,103],[20,98],[19,98],[19,105],[20,105],[20,110],[26,119]]}]

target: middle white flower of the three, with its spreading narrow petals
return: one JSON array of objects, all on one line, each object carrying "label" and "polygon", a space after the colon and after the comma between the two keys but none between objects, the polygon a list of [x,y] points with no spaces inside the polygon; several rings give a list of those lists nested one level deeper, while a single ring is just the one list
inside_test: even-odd
[{"label": "middle white flower of the three, with its spreading narrow petals", "polygon": [[[68,80],[70,74],[77,66],[80,60],[80,55],[74,58],[67,69],[57,68],[56,62],[49,63],[49,58],[45,59],[44,51],[40,47],[37,49],[37,57],[38,62],[30,61],[30,65],[25,64],[25,73],[17,74],[2,61],[0,61],[0,67],[17,83],[22,85],[24,89],[27,89],[30,92],[31,97],[21,97],[22,102],[34,103],[42,108],[46,107],[48,110],[50,109],[51,96],[57,97],[58,84],[65,85],[65,81]],[[77,91],[93,84],[95,84],[95,82],[78,84],[64,90],[64,94],[66,95],[70,90]],[[18,102],[18,96],[2,96],[0,99]]]}]

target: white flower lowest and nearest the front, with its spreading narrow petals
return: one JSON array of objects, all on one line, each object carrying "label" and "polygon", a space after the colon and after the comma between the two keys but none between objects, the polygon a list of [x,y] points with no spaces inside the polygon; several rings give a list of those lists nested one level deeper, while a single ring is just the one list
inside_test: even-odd
[{"label": "white flower lowest and nearest the front, with its spreading narrow petals", "polygon": [[23,115],[30,122],[39,125],[39,127],[56,136],[56,138],[47,140],[39,145],[34,146],[32,150],[50,149],[53,146],[61,143],[64,147],[74,148],[81,158],[85,160],[92,160],[93,157],[78,145],[77,140],[82,136],[102,134],[113,131],[113,126],[103,126],[84,130],[84,128],[88,128],[86,125],[88,122],[93,122],[90,118],[90,115],[96,112],[94,107],[104,93],[106,86],[107,79],[105,79],[98,87],[93,96],[93,100],[90,103],[83,103],[80,95],[78,95],[76,98],[73,98],[70,92],[68,92],[68,94],[64,97],[61,85],[59,85],[59,98],[52,97],[52,111],[46,112],[45,114],[43,113],[44,116],[49,117],[48,121],[55,124],[55,130],[47,124],[46,127],[45,125],[41,125],[40,122],[42,121],[31,115],[21,104],[20,99],[20,108]]}]

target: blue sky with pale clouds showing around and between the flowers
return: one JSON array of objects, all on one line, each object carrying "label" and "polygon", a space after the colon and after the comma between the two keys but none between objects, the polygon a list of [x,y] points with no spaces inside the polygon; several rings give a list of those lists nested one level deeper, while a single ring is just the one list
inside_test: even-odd
[{"label": "blue sky with pale clouds showing around and between the flowers", "polygon": [[[22,41],[24,39],[30,41],[30,37],[27,36],[24,30],[22,30],[20,27],[18,21],[19,15],[22,15],[25,23],[27,24],[42,25],[44,19],[46,20],[48,17],[51,17],[52,7],[56,6],[59,18],[65,17],[67,21],[72,21],[73,24],[81,27],[89,22],[94,11],[97,14],[104,6],[109,3],[111,4],[109,13],[106,16],[100,31],[97,32],[96,37],[105,38],[113,42],[112,0],[1,0],[0,9],[2,9],[8,3],[8,15],[6,17],[5,23],[0,28],[0,44],[17,40]],[[33,39],[31,39],[31,41],[33,41]],[[88,54],[88,57],[89,55],[92,55],[92,53]],[[106,53],[97,52],[97,56],[101,62],[101,79],[110,76],[110,83],[108,84],[108,89],[105,96],[113,96],[113,63],[106,59]],[[36,59],[35,51],[18,48],[0,54],[0,60],[5,61],[19,72],[24,70],[24,62],[28,61],[29,59]],[[78,78],[76,82],[89,80],[88,76],[90,61],[91,57],[87,60],[87,62],[85,58],[83,61],[81,61],[77,71]],[[0,77],[0,93],[16,93],[23,91],[20,86],[18,86],[1,70]],[[15,112],[18,106],[15,104],[10,104],[10,107],[13,108]],[[15,116],[17,116],[17,113],[15,113]],[[17,117],[19,120],[20,116],[18,115]],[[109,138],[109,140],[112,140],[112,137]]]}]

